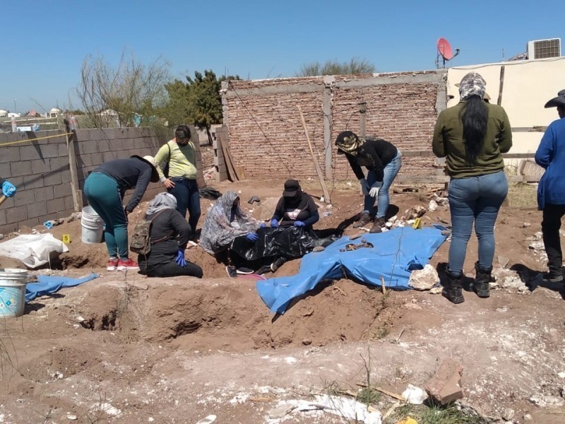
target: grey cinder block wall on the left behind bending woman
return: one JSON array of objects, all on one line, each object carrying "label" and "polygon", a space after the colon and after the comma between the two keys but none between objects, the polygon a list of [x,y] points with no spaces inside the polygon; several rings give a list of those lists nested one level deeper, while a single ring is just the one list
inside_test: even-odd
[{"label": "grey cinder block wall on the left behind bending woman", "polygon": [[[0,205],[0,233],[6,234],[24,225],[33,227],[73,213],[69,153],[66,136],[61,134],[64,131],[0,133],[0,177],[18,188],[16,196]],[[75,151],[80,190],[88,173],[101,163],[131,155],[155,155],[167,141],[166,136],[159,139],[148,128],[79,129],[77,138]],[[198,184],[203,186],[196,134],[193,141],[198,149]],[[163,190],[160,183],[150,184],[143,200],[152,199]],[[129,196],[131,191],[126,193],[124,202]],[[85,198],[83,204],[87,204]]]}]

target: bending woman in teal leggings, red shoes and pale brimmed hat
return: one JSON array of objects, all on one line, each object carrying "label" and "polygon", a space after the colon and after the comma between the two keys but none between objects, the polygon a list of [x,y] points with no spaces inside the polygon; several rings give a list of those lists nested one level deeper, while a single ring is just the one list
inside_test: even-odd
[{"label": "bending woman in teal leggings, red shoes and pale brimmed hat", "polygon": [[[88,175],[84,194],[88,203],[106,224],[104,237],[108,249],[108,271],[138,269],[129,259],[128,215],[141,201],[149,182],[159,181],[153,156],[133,155],[127,159],[102,163]],[[126,190],[134,189],[124,208]]]}]

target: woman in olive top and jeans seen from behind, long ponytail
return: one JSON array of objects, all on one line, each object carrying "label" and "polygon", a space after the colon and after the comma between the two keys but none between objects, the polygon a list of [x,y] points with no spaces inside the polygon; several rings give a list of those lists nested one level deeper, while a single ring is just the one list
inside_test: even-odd
[{"label": "woman in olive top and jeans seen from behind, long ponytail", "polygon": [[511,126],[504,109],[484,102],[482,76],[470,72],[459,86],[460,102],[442,111],[436,122],[432,149],[446,158],[451,210],[451,245],[444,296],[463,302],[463,264],[473,223],[479,242],[473,290],[489,297],[494,258],[494,223],[508,194],[501,153],[512,146]]}]

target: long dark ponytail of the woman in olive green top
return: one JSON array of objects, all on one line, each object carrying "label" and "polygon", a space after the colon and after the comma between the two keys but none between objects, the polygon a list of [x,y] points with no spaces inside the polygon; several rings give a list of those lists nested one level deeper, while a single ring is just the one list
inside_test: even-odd
[{"label": "long dark ponytail of the woman in olive green top", "polygon": [[465,153],[467,153],[467,161],[470,165],[477,163],[477,156],[482,150],[484,136],[487,134],[488,119],[489,110],[482,98],[478,95],[470,96],[461,111]]}]

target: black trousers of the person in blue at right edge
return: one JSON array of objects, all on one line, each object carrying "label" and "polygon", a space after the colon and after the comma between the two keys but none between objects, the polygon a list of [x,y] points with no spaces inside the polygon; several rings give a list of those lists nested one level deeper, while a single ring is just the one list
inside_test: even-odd
[{"label": "black trousers of the person in blue at right edge", "polygon": [[565,215],[565,205],[546,203],[543,208],[542,234],[545,253],[547,253],[547,267],[552,274],[561,273],[563,266],[563,253],[561,252],[561,218]]}]

